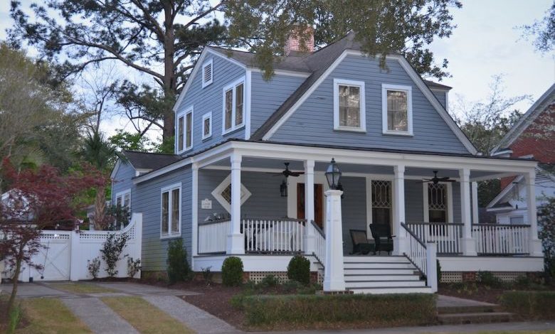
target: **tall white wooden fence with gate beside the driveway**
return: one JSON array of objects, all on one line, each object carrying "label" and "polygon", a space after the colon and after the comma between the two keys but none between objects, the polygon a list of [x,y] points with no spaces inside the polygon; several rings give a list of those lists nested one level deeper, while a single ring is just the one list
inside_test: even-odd
[{"label": "tall white wooden fence with gate beside the driveway", "polygon": [[[101,262],[98,277],[106,277],[106,264],[100,256],[100,249],[109,234],[127,234],[127,244],[122,255],[139,259],[141,257],[142,214],[134,213],[129,225],[121,231],[56,231],[45,230],[41,236],[44,247],[32,262],[41,264],[43,269],[36,270],[24,266],[19,276],[21,281],[79,281],[92,279],[87,264],[98,257]],[[127,277],[127,258],[117,263],[117,277]],[[2,274],[7,278],[6,274]],[[136,275],[137,277],[140,274]]]}]

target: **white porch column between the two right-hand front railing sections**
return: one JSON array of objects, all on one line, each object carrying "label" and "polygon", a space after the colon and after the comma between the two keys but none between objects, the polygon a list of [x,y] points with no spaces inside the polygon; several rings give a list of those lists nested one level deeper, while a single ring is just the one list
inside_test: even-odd
[{"label": "white porch column between the two right-hand front railing sections", "polygon": [[470,213],[470,169],[459,170],[460,177],[460,219],[462,221],[462,254],[475,256],[476,243],[472,239],[472,214]]}]

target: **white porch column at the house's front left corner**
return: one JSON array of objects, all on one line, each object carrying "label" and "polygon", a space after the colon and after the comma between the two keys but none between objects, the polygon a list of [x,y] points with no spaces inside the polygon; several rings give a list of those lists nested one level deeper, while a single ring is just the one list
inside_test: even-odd
[{"label": "white porch column at the house's front left corner", "polygon": [[231,154],[231,230],[228,235],[228,254],[245,254],[245,241],[240,232],[242,159],[238,153]]}]

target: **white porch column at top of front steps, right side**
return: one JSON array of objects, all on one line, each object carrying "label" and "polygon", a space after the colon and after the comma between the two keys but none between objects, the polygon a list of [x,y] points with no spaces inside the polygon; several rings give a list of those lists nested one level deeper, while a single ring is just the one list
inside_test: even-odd
[{"label": "white porch column at top of front steps, right side", "polygon": [[405,166],[393,166],[393,255],[406,252],[406,231],[401,228],[405,221]]}]

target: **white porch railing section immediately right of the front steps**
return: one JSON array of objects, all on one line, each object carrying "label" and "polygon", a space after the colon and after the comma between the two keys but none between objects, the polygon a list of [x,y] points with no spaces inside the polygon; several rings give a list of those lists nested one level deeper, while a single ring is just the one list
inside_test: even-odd
[{"label": "white porch railing section immediately right of the front steps", "polygon": [[406,226],[422,242],[435,242],[438,254],[460,254],[460,238],[462,237],[460,222],[407,222]]}]

